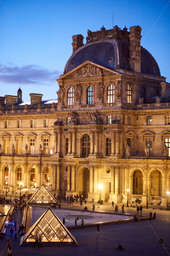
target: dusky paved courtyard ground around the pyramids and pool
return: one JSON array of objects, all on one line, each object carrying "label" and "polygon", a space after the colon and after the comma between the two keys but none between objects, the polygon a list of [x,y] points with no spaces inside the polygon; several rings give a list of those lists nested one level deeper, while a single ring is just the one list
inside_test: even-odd
[{"label": "dusky paved courtyard ground around the pyramids and pool", "polygon": [[[121,210],[119,204],[119,212]],[[131,204],[130,204],[131,205]],[[83,210],[83,206],[79,203],[75,203],[73,206],[68,206],[66,203],[61,204],[63,208]],[[86,204],[88,210],[92,210],[92,203]],[[142,205],[144,206],[144,205]],[[155,206],[154,206],[155,207]],[[162,207],[162,206],[160,206]],[[125,223],[117,225],[109,225],[100,227],[100,233],[97,232],[96,227],[84,228],[83,230],[70,230],[77,240],[79,247],[66,247],[51,245],[50,247],[33,248],[19,247],[20,237],[17,235],[18,240],[11,240],[11,247],[14,255],[170,255],[170,211],[152,209],[149,205],[149,209],[143,208],[143,214],[149,215],[149,212],[156,212],[156,220],[141,221],[134,223]],[[95,210],[114,212],[111,204],[104,203]],[[125,207],[125,213],[134,214],[136,207]],[[17,225],[22,221],[19,211],[14,213],[13,220],[17,220]],[[4,239],[0,240],[0,256],[7,255],[6,242],[10,237],[10,230],[7,231]],[[163,238],[163,244],[160,244],[158,238]],[[118,244],[122,244],[125,248],[124,251],[116,251],[115,247]]]}]

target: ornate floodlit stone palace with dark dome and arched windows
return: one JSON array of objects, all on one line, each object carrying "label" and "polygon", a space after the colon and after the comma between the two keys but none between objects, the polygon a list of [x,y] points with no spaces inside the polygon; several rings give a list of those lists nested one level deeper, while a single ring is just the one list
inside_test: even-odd
[{"label": "ornate floodlit stone palace with dark dome and arched windows", "polygon": [[[167,203],[170,84],[140,46],[141,28],[73,38],[58,100],[0,97],[1,190],[51,185],[60,196]],[[19,185],[21,183],[22,185]],[[98,189],[102,184],[103,189]],[[127,192],[129,189],[129,192]]]}]

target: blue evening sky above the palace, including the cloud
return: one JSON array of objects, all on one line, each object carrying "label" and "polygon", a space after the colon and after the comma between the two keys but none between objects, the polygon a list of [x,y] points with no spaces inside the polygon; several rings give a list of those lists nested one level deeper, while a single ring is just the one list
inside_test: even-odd
[{"label": "blue evening sky above the palace, including the cloud", "polygon": [[114,26],[142,28],[141,45],[170,82],[168,1],[0,0],[0,96],[16,95],[20,79],[24,101],[30,100],[30,93],[57,98],[55,80],[72,54],[71,37],[86,38],[87,29],[100,30],[102,25],[111,29],[113,10]]}]

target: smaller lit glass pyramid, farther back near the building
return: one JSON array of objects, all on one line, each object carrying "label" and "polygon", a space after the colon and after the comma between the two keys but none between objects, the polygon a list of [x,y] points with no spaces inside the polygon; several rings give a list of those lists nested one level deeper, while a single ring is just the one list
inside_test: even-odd
[{"label": "smaller lit glass pyramid, farther back near the building", "polygon": [[44,186],[44,184],[39,187],[39,189],[33,194],[33,196],[27,202],[27,204],[34,205],[47,205],[51,203],[55,203],[56,205],[58,205],[57,201],[49,192],[49,190]]}]

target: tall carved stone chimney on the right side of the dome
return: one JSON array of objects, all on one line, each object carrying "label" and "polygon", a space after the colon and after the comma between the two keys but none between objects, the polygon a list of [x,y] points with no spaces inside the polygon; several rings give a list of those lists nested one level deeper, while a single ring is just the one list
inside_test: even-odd
[{"label": "tall carved stone chimney on the right side of the dome", "polygon": [[135,72],[141,72],[141,59],[140,59],[140,39],[141,27],[130,27],[130,67]]}]

